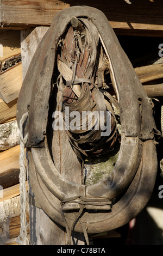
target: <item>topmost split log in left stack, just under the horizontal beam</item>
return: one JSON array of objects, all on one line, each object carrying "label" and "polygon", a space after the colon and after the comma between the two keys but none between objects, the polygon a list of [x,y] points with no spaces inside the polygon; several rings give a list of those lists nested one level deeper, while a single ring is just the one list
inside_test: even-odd
[{"label": "topmost split log in left stack, just under the horizontal beam", "polygon": [[20,53],[20,31],[0,29],[0,60]]}]

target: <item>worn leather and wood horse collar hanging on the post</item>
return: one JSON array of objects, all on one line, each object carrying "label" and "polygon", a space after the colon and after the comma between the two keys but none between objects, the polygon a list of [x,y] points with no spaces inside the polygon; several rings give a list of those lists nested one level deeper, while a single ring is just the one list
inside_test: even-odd
[{"label": "worn leather and wood horse collar hanging on the post", "polygon": [[[107,179],[91,186],[68,181],[57,172],[46,138],[56,47],[72,16],[89,17],[97,27],[109,59],[112,83],[120,105],[122,143],[117,163]],[[46,98],[43,97],[45,94]],[[125,190],[124,196],[112,206],[111,212],[84,212],[81,220],[87,232],[120,227],[142,210],[151,196],[157,170],[152,108],[133,66],[101,11],[91,7],[71,7],[55,16],[24,79],[17,103],[18,123],[27,110],[25,134],[29,133],[26,147],[31,150],[28,152],[30,182],[41,208],[53,220],[64,225],[60,203],[66,198],[79,196],[112,200]],[[67,223],[71,224],[75,212],[65,213],[65,216]],[[75,230],[83,231],[80,222]]]}]

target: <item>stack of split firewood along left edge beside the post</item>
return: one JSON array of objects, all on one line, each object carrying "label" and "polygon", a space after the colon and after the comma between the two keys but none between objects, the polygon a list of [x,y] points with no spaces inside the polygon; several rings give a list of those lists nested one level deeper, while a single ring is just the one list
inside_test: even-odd
[{"label": "stack of split firewood along left edge beside the post", "polygon": [[20,31],[2,29],[0,36],[0,244],[17,245],[20,145],[16,103],[22,86]]}]

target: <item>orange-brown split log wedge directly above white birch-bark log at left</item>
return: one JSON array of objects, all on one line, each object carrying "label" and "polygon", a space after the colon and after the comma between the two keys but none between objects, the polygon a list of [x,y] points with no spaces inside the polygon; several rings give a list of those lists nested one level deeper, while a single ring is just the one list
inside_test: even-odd
[{"label": "orange-brown split log wedge directly above white birch-bark log at left", "polygon": [[0,98],[0,124],[16,119],[16,104],[17,99],[5,103]]}]

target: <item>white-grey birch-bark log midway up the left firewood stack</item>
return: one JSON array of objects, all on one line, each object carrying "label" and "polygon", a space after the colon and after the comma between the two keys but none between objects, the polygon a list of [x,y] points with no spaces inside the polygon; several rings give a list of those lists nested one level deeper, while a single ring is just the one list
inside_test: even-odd
[{"label": "white-grey birch-bark log midway up the left firewood stack", "polygon": [[0,151],[15,147],[19,143],[19,129],[17,121],[0,125]]}]

